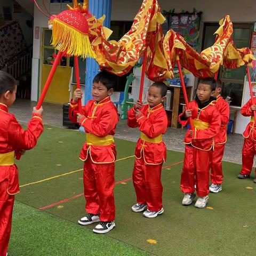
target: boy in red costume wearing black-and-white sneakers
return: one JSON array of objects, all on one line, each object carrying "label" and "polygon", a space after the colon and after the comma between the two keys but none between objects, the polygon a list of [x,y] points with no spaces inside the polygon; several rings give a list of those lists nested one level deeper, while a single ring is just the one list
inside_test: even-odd
[{"label": "boy in red costume wearing black-and-white sneakers", "polygon": [[110,100],[114,89],[114,75],[101,71],[93,79],[92,96],[78,113],[77,100],[82,92],[76,89],[70,102],[69,118],[84,127],[86,142],[81,150],[80,159],[84,161],[84,196],[87,215],[78,223],[90,225],[100,223],[94,233],[107,233],[115,227],[115,134],[118,114]]}]

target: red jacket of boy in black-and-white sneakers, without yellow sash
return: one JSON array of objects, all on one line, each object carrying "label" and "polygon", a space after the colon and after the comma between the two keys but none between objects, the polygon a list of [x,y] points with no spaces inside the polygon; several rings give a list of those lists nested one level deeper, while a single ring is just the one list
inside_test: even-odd
[{"label": "red jacket of boy in black-and-white sneakers, without yellow sash", "polygon": [[[110,97],[98,103],[95,100],[89,100],[82,110],[85,117],[79,125],[84,127],[86,133],[92,133],[100,138],[115,134],[118,114],[116,107],[110,101]],[[71,101],[69,107],[69,119],[71,122],[77,123],[77,112],[77,103]],[[115,143],[108,146],[94,146],[85,142],[79,158],[85,161],[88,156],[91,157],[94,163],[113,163],[116,161]]]}]

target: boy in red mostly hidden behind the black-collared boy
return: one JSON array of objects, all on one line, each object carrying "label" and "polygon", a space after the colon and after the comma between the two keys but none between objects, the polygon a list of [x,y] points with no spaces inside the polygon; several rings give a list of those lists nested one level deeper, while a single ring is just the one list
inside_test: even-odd
[{"label": "boy in red mostly hidden behind the black-collared boy", "polygon": [[224,100],[220,93],[222,90],[222,83],[218,79],[217,86],[213,97],[216,98],[216,108],[220,113],[220,131],[214,137],[214,149],[212,150],[212,165],[211,165],[211,182],[209,190],[212,193],[218,193],[221,191],[221,183],[223,181],[222,173],[222,157],[224,154],[225,145],[227,142],[227,124],[229,121],[229,105],[226,100]]}]

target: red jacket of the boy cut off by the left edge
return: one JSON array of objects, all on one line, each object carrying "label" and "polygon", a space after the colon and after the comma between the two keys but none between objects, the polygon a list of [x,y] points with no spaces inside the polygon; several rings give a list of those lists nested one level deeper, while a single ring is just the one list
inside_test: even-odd
[{"label": "red jacket of the boy cut off by the left edge", "polygon": [[[0,103],[0,158],[2,154],[29,150],[36,146],[37,139],[43,132],[42,116],[33,114],[28,129],[23,130],[14,115],[8,113],[6,105]],[[1,159],[0,159],[1,161]],[[0,186],[7,183],[7,192],[19,193],[18,168],[13,165],[0,166]]]}]

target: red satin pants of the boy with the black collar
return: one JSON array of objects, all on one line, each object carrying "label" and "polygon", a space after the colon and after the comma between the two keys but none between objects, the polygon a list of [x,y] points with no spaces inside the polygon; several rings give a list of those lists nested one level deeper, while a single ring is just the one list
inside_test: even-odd
[{"label": "red satin pants of the boy with the black collar", "polygon": [[180,188],[183,193],[197,196],[209,194],[209,178],[212,151],[204,151],[194,147],[185,146],[185,156],[181,173]]}]

